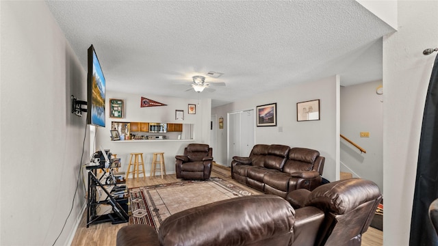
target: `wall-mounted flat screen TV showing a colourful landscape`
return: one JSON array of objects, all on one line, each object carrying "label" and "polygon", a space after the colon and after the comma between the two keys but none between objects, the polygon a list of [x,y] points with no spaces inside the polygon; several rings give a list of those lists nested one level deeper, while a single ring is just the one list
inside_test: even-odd
[{"label": "wall-mounted flat screen TV showing a colourful landscape", "polygon": [[87,124],[105,127],[105,77],[96,51],[88,48]]}]

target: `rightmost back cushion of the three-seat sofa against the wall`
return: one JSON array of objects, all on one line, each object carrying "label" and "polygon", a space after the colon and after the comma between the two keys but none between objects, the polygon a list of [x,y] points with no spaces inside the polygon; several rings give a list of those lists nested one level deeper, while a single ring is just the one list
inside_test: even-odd
[{"label": "rightmost back cushion of the three-seat sofa against the wall", "polygon": [[307,148],[292,148],[283,167],[283,172],[292,174],[299,171],[310,171],[313,169],[313,163],[320,156],[317,150]]}]

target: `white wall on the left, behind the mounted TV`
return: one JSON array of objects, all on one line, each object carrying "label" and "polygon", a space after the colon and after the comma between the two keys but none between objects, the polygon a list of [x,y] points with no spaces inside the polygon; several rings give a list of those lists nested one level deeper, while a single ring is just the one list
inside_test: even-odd
[{"label": "white wall on the left, behind the mounted TV", "polygon": [[0,6],[0,245],[52,245],[73,204],[55,244],[67,245],[85,204],[86,118],[70,113],[70,95],[86,98],[86,72],[44,1]]}]

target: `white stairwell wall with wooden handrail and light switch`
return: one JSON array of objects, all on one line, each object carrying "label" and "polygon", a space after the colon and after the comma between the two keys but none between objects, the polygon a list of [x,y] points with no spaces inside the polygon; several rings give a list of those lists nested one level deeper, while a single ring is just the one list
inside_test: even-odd
[{"label": "white stairwell wall with wooden handrail and light switch", "polygon": [[[374,181],[383,192],[383,95],[376,94],[382,81],[341,87],[341,134],[366,150],[341,140],[341,171]],[[370,137],[360,137],[369,132]]]}]

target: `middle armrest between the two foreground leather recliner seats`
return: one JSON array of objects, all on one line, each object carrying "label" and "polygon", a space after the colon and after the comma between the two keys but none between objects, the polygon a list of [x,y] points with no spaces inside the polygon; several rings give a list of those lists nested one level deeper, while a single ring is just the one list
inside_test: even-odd
[{"label": "middle armrest between the two foreground leather recliner seats", "polygon": [[318,232],[324,221],[324,212],[313,206],[295,210],[294,245],[315,245]]}]

